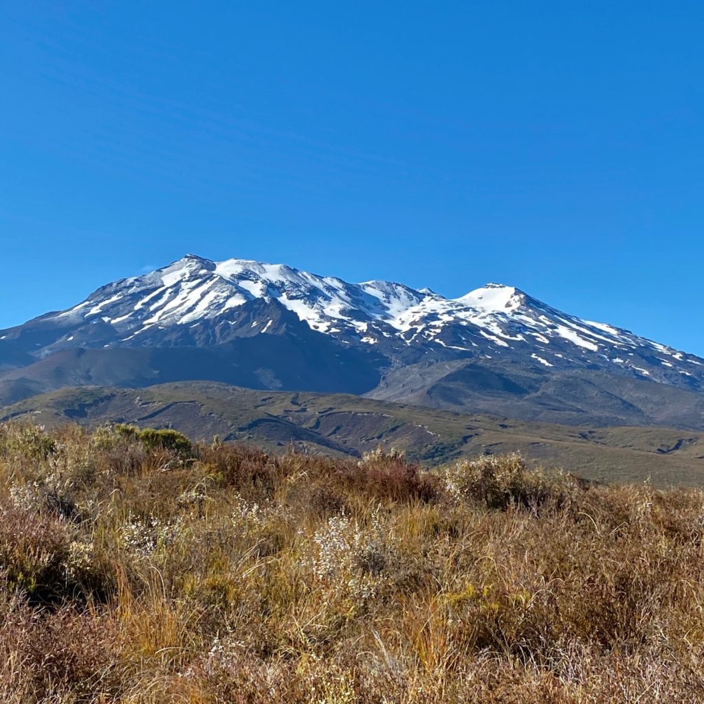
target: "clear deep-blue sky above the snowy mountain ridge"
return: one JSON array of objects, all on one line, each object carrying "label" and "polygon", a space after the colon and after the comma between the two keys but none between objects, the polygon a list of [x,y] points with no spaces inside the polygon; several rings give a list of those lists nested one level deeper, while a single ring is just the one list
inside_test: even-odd
[{"label": "clear deep-blue sky above the snowy mountain ridge", "polygon": [[704,355],[704,4],[23,0],[0,327],[184,253],[516,285]]}]

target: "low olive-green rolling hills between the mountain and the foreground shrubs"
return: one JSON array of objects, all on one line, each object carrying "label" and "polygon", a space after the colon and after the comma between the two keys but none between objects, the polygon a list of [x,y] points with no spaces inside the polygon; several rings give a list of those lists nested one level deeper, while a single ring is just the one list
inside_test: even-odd
[{"label": "low olive-green rolling hills between the mountain and the foreground shrubs", "polygon": [[465,415],[344,394],[254,391],[212,382],[146,389],[62,389],[0,409],[0,420],[54,426],[134,422],[275,450],[333,456],[396,447],[425,466],[520,451],[532,465],[571,467],[606,481],[704,484],[704,433],[650,427],[589,429]]}]

